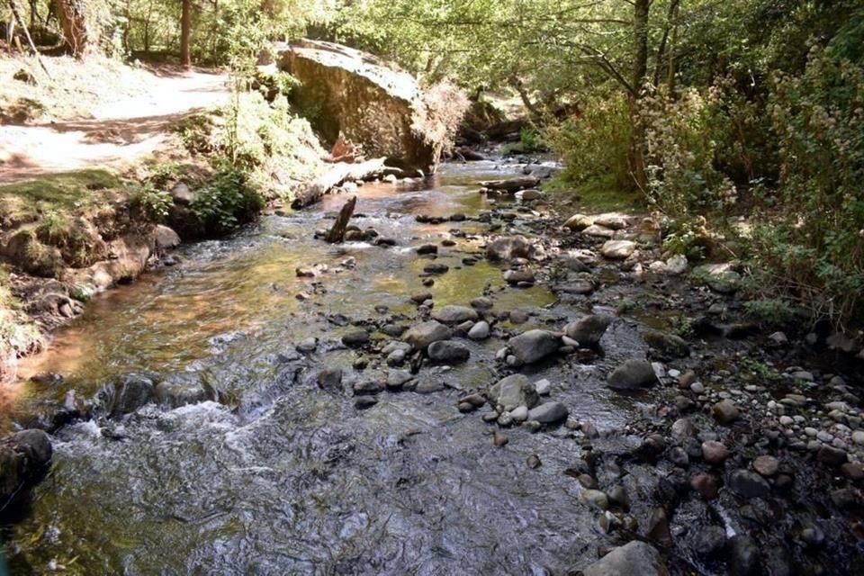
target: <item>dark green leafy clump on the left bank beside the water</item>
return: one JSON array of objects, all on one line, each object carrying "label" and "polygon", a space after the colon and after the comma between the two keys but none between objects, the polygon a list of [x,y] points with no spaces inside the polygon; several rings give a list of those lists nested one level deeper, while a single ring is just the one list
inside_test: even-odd
[{"label": "dark green leafy clump on the left bank beside the water", "polygon": [[198,191],[192,211],[205,234],[221,235],[252,220],[263,207],[264,200],[246,173],[225,167]]}]

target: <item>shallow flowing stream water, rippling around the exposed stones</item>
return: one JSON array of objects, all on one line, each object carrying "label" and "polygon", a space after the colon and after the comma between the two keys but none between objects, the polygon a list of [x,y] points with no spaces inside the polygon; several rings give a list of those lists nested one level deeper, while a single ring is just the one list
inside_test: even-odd
[{"label": "shallow flowing stream water, rippling around the exposed stones", "polygon": [[[453,370],[424,367],[419,379],[443,391],[383,392],[369,410],[315,381],[323,368],[355,374],[357,353],[337,344],[347,320],[410,325],[414,293],[428,290],[439,307],[485,290],[496,311],[533,311],[526,328],[572,316],[540,285],[505,288],[500,267],[463,265],[481,251],[481,239],[471,238],[479,222],[415,220],[489,211],[474,183],[516,167],[444,166],[426,189],[361,188],[352,221],[397,239],[396,247],[312,238],[346,200],[329,196],[306,211],[266,216],[235,238],[185,247],[178,266],[92,302],[47,355],[25,366],[25,375],[56,371],[66,383],[23,384],[19,406],[62,401],[70,390],[88,398],[130,371],[199,379],[220,401],[61,428],[52,472],[11,535],[17,570],[557,574],[596,558],[607,536],[579,500],[579,482],[563,473],[580,454],[572,432],[511,428],[509,444],[497,448],[479,413],[456,410],[460,391],[500,377],[500,340],[471,343],[472,359]],[[523,217],[531,215],[511,226],[518,230]],[[420,273],[429,260],[415,249],[445,238],[455,246],[437,262],[451,269],[427,289]],[[329,269],[314,280],[295,274],[318,264]],[[608,360],[642,346],[632,322],[610,334]],[[318,351],[296,354],[293,344],[309,337],[320,339]],[[373,367],[358,377],[385,374]],[[639,409],[612,396],[590,365],[553,363],[527,374],[549,378],[554,400],[602,429],[623,428]],[[530,455],[542,466],[530,469]]]}]

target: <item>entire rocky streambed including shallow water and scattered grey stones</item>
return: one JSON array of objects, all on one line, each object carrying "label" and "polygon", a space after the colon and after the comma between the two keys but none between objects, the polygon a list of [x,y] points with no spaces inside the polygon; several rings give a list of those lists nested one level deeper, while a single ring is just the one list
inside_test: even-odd
[{"label": "entire rocky streambed including shallow water and scattered grey stones", "polygon": [[857,573],[860,348],[549,169],[351,186],[344,245],[329,196],[97,299],[25,366],[16,572]]}]

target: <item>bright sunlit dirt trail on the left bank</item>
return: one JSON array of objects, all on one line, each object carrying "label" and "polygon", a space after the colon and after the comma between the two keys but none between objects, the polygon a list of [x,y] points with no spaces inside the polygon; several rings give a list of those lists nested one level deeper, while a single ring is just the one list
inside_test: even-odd
[{"label": "bright sunlit dirt trail on the left bank", "polygon": [[98,106],[92,118],[0,126],[0,183],[90,167],[118,167],[156,150],[172,123],[227,103],[227,76],[163,71],[131,99]]}]

